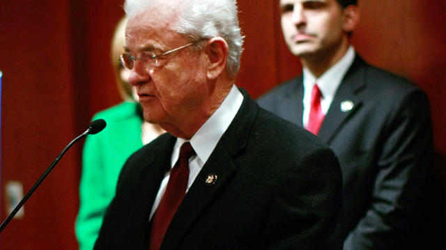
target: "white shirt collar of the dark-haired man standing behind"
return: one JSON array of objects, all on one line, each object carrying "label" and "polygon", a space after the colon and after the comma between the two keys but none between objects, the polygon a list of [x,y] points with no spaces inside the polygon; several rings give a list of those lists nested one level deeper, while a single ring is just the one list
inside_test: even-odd
[{"label": "white shirt collar of the dark-haired man standing behind", "polygon": [[342,78],[344,78],[348,68],[353,64],[353,60],[355,60],[355,49],[350,46],[341,60],[335,63],[317,79],[309,69],[304,67],[303,78],[305,90],[312,91],[314,83],[317,83],[323,99],[331,102],[337,88],[339,88],[339,85],[341,84]]}]

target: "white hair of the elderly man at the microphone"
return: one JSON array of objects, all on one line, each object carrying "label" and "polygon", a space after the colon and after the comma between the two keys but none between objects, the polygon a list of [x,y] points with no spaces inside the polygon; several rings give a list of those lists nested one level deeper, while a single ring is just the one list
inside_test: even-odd
[{"label": "white hair of the elderly man at the microphone", "polygon": [[230,76],[237,75],[244,37],[238,24],[236,0],[126,0],[124,10],[128,17],[134,17],[155,4],[160,12],[167,11],[164,15],[178,15],[176,31],[192,41],[224,38],[229,47],[226,69]]}]

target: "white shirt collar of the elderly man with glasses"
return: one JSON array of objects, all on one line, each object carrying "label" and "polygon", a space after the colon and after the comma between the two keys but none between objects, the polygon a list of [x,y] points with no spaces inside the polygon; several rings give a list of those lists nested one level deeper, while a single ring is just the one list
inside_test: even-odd
[{"label": "white shirt collar of the elderly man with glasses", "polygon": [[[218,141],[231,124],[234,117],[242,105],[243,94],[236,85],[232,85],[231,91],[226,96],[222,104],[209,117],[209,119],[199,128],[190,139],[190,144],[197,156],[203,163],[206,163],[210,154],[217,146]],[[172,152],[171,165],[173,166],[178,159],[180,147],[184,142],[183,138],[177,138],[174,151]]]}]

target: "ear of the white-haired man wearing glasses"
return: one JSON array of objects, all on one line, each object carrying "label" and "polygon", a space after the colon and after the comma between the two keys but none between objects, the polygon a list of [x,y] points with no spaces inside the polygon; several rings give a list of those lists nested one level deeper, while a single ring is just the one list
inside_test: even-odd
[{"label": "ear of the white-haired man wearing glasses", "polygon": [[206,46],[206,55],[208,56],[206,76],[208,79],[214,80],[224,73],[228,51],[228,44],[223,38],[215,37],[208,40]]}]

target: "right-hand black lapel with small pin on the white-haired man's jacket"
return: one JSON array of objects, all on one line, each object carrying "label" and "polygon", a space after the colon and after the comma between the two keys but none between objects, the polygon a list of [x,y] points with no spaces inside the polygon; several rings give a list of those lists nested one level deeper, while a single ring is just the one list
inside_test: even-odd
[{"label": "right-hand black lapel with small pin on the white-haired man's jacket", "polygon": [[[167,228],[160,249],[176,249],[194,222],[206,213],[210,201],[236,174],[233,158],[245,149],[250,128],[259,110],[246,92],[242,92],[244,99],[240,110],[185,195]],[[217,176],[217,180],[213,185],[208,185],[206,180],[211,174]]]}]

